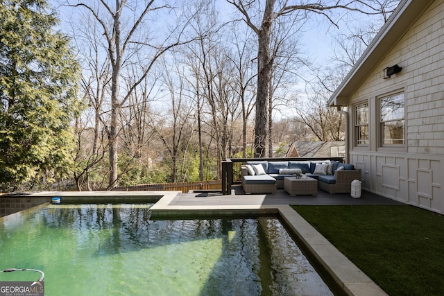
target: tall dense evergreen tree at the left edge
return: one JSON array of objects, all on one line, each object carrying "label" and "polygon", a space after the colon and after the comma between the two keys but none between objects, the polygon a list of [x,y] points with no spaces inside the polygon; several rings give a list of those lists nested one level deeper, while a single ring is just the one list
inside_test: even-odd
[{"label": "tall dense evergreen tree at the left edge", "polygon": [[[73,164],[79,66],[44,0],[0,1],[0,184],[60,177]],[[8,188],[8,189],[10,189]]]}]

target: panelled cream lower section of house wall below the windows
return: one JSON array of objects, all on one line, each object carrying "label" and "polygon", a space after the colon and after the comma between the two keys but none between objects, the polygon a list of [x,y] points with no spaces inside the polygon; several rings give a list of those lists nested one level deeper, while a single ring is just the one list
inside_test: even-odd
[{"label": "panelled cream lower section of house wall below the windows", "polygon": [[361,168],[364,189],[444,213],[444,157],[352,152],[350,160]]}]

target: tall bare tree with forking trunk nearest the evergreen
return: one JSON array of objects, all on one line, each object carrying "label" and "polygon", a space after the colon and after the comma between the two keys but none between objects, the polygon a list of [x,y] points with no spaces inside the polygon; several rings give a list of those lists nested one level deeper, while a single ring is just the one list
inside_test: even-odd
[{"label": "tall bare tree with forking trunk nearest the evergreen", "polygon": [[[155,24],[148,21],[148,14],[155,17],[163,10],[171,11],[169,4],[159,4],[155,0],[100,0],[68,1],[71,7],[85,8],[94,16],[105,37],[104,50],[108,53],[111,65],[111,110],[109,127],[110,174],[108,188],[117,185],[118,176],[118,136],[121,107],[133,94],[133,89],[142,83],[153,68],[153,64],[169,49],[185,44],[182,40],[183,26],[176,26],[165,37],[149,31]],[[187,24],[187,21],[185,21]],[[169,28],[169,27],[168,27]],[[155,28],[154,28],[155,29]],[[164,31],[167,28],[163,28]],[[122,70],[129,64],[139,65],[137,80],[128,89],[121,89]],[[121,93],[124,92],[124,93]]]}]

